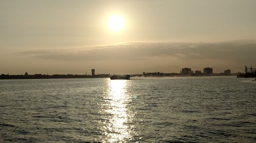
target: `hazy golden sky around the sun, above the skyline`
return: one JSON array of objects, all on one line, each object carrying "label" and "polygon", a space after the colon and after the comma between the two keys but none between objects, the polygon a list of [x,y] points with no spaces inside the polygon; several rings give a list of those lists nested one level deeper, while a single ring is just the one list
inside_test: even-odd
[{"label": "hazy golden sky around the sun, above the skyline", "polygon": [[[243,72],[256,66],[256,1],[0,0],[0,74]],[[111,16],[124,25],[113,32]]]}]

